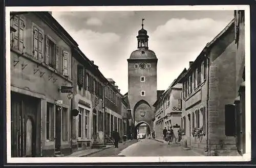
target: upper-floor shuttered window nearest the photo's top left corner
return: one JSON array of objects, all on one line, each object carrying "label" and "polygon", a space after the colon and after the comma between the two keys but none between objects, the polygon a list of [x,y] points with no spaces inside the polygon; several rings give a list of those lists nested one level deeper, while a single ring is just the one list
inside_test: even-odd
[{"label": "upper-floor shuttered window nearest the photo's top left corner", "polygon": [[14,16],[10,24],[16,30],[16,32],[11,32],[11,47],[23,52],[25,49],[25,19],[20,16]]}]

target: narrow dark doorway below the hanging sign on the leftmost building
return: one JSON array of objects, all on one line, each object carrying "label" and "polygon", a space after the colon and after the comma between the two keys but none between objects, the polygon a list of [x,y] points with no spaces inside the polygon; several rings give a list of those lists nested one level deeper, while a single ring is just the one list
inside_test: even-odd
[{"label": "narrow dark doorway below the hanging sign on the leftmost building", "polygon": [[61,107],[56,106],[55,116],[55,152],[60,152],[61,146]]}]

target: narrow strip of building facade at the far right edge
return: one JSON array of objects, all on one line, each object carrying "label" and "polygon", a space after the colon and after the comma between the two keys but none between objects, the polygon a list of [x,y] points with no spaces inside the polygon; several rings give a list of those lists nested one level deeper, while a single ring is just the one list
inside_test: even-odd
[{"label": "narrow strip of building facade at the far right edge", "polygon": [[240,155],[245,150],[245,14],[243,10],[234,11],[234,40],[236,43],[236,93],[234,101],[236,120],[236,144]]}]

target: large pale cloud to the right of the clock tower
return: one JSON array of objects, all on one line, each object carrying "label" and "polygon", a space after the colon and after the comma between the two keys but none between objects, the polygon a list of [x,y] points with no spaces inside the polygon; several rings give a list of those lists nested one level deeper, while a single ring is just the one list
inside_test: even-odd
[{"label": "large pale cloud to the right of the clock tower", "polygon": [[211,18],[172,18],[158,26],[148,44],[159,59],[158,88],[167,88],[227,24]]}]

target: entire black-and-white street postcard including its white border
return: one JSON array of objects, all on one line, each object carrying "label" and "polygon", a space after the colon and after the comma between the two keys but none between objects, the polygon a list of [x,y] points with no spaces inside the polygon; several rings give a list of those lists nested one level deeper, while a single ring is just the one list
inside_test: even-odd
[{"label": "entire black-and-white street postcard including its white border", "polygon": [[6,72],[7,162],[251,159],[249,6],[6,7]]}]

